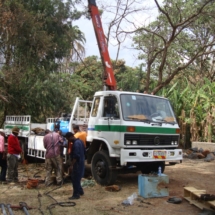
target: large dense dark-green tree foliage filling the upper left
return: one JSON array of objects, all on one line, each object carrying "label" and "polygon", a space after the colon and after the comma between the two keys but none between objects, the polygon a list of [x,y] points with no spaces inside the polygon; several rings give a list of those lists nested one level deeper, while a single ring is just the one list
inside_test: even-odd
[{"label": "large dense dark-green tree foliage filling the upper left", "polygon": [[[1,1],[0,106],[7,114],[30,114],[45,120],[70,106],[69,74],[60,65],[75,44],[83,44],[72,21],[78,1]],[[63,69],[62,69],[63,68]],[[71,91],[72,92],[72,91]],[[65,105],[67,104],[67,105]]]}]

